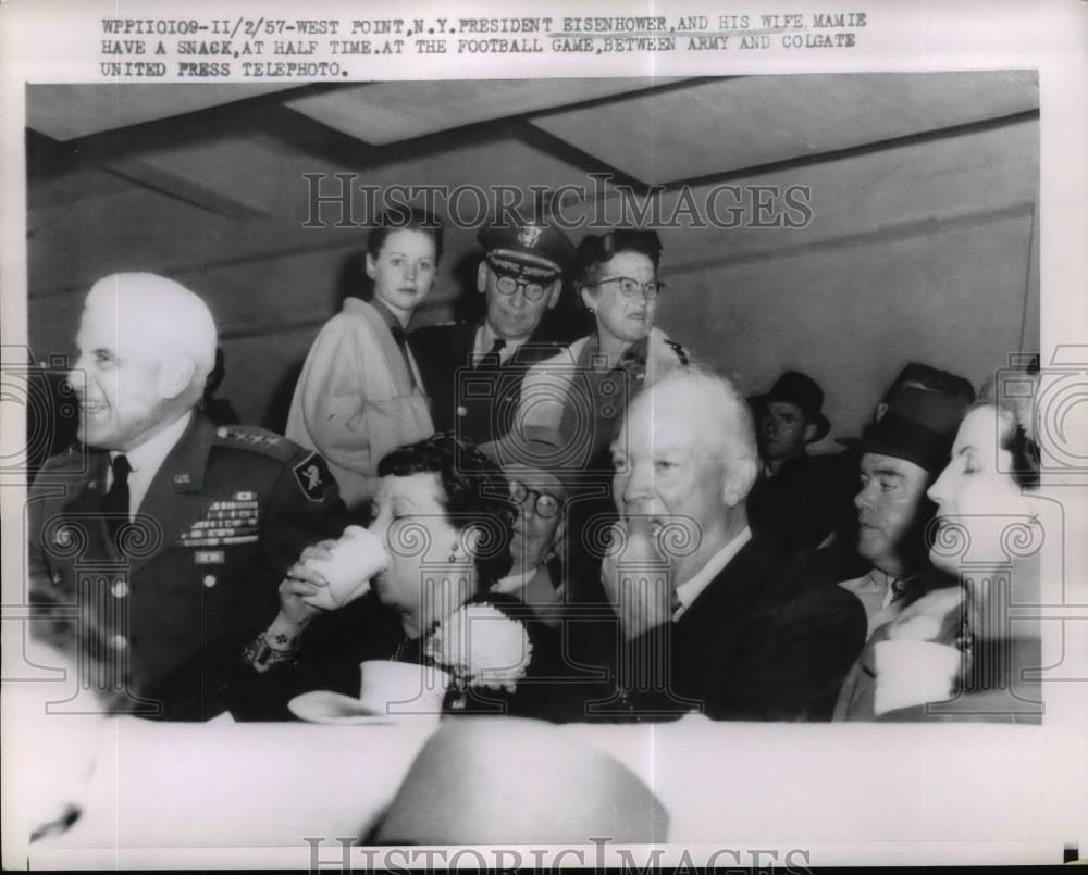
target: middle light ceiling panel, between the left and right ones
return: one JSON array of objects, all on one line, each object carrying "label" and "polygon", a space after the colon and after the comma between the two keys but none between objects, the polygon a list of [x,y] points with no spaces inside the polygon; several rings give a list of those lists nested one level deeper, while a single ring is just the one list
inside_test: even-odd
[{"label": "middle light ceiling panel, between the left and right ones", "polygon": [[580,103],[671,82],[676,80],[391,82],[306,95],[287,100],[284,105],[363,142],[381,146],[475,122]]}]

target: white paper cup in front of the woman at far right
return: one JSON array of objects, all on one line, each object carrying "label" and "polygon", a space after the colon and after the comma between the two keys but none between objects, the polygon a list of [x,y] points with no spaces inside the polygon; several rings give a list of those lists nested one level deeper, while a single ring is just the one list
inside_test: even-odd
[{"label": "white paper cup in front of the woman at far right", "polygon": [[874,645],[873,654],[877,715],[950,698],[963,659],[960,650],[948,645],[898,639]]}]

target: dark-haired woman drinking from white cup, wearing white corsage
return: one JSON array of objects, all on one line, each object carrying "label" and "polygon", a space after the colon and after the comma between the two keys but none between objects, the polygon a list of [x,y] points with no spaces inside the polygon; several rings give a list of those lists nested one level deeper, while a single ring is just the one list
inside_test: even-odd
[{"label": "dark-haired woman drinking from white cup, wearing white corsage", "polygon": [[[489,592],[510,567],[515,518],[497,466],[434,435],[394,450],[378,474],[369,529],[307,548],[281,584],[235,713],[283,717],[305,690],[358,695],[360,662],[393,660],[447,673],[447,710],[543,715],[540,687],[521,682],[549,658],[549,635],[524,604]],[[345,552],[355,575],[341,574]]]}]

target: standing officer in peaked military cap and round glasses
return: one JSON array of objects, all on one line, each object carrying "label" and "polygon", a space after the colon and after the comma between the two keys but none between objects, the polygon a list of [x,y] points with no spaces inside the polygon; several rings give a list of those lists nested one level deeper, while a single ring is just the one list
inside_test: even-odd
[{"label": "standing officer in peaked military cap and round glasses", "polygon": [[510,429],[528,368],[564,346],[544,317],[559,301],[574,248],[543,222],[494,223],[477,239],[484,317],[420,328],[411,347],[435,428],[483,445]]}]

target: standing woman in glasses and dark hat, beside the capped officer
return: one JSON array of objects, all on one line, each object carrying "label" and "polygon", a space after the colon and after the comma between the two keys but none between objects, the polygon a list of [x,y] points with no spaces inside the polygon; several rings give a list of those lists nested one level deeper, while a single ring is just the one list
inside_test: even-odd
[{"label": "standing woman in glasses and dark hat, beside the capped officer", "polygon": [[688,364],[688,354],[654,327],[662,242],[656,232],[617,228],[578,247],[576,280],[594,317],[592,334],[526,376],[519,424],[555,429],[571,462],[610,474],[609,442],[628,400],[642,386]]}]

